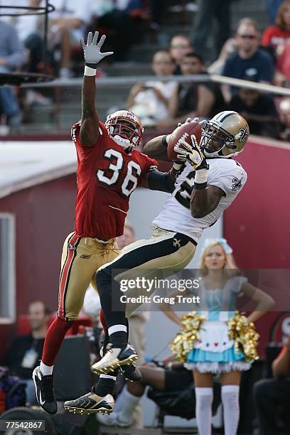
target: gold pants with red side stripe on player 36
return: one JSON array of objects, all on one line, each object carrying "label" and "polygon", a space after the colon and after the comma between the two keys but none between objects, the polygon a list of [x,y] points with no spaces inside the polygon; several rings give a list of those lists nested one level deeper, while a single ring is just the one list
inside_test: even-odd
[{"label": "gold pants with red side stripe on player 36", "polygon": [[61,257],[58,316],[70,321],[78,318],[89,284],[97,290],[97,269],[112,262],[118,254],[116,239],[102,242],[91,237],[77,237],[75,232],[68,235]]}]

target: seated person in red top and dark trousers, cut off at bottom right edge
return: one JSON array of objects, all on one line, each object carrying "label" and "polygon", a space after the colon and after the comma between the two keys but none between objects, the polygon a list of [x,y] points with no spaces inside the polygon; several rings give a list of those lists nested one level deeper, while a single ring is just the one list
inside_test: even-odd
[{"label": "seated person in red top and dark trousers, cut off at bottom right edge", "polygon": [[254,403],[259,420],[259,435],[281,434],[277,426],[278,408],[284,407],[285,434],[290,433],[290,336],[272,364],[274,379],[254,384]]}]

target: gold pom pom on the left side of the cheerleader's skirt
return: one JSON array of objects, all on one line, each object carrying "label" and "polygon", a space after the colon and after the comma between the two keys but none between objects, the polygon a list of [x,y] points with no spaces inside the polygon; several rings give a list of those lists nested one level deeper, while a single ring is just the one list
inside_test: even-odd
[{"label": "gold pom pom on the left side of the cheerleader's skirt", "polygon": [[186,355],[193,349],[193,342],[198,340],[200,326],[204,320],[205,317],[196,311],[182,316],[182,331],[169,343],[169,348],[181,363],[186,361]]}]

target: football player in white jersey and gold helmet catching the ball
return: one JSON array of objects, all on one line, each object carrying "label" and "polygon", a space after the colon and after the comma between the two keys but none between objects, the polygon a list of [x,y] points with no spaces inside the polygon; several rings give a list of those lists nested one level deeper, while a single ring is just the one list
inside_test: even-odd
[{"label": "football player in white jersey and gold helmet catching the ball", "polygon": [[[245,170],[232,159],[242,151],[249,136],[245,119],[237,112],[220,112],[203,122],[202,128],[200,144],[191,136],[191,145],[180,140],[175,146],[183,171],[176,178],[175,190],[163,210],[154,219],[151,239],[128,245],[116,259],[97,271],[97,288],[110,340],[107,353],[92,366],[93,372],[107,375],[107,380],[102,378],[99,382],[113,386],[109,373],[136,360],[135,350],[128,345],[126,316],[140,304],[119,304],[113,310],[112,305],[124,296],[121,279],[136,279],[140,275],[158,279],[160,273],[165,278],[186,267],[193,259],[203,230],[220,218],[247,181]],[[146,144],[144,152],[158,158],[164,151],[167,155],[166,146],[167,136],[158,136]],[[134,291],[134,296],[149,296],[154,288]],[[93,393],[86,394],[86,398],[90,394]],[[65,402],[65,408],[90,413],[94,412],[93,402],[92,397],[90,404],[80,397]]]}]

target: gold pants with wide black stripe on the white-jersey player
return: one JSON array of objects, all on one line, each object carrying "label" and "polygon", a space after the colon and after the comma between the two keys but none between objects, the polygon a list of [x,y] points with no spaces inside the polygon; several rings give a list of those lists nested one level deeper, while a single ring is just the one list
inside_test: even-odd
[{"label": "gold pants with wide black stripe on the white-jersey player", "polygon": [[[164,279],[187,266],[193,259],[196,245],[197,243],[186,235],[156,228],[150,240],[137,240],[124,247],[117,258],[109,264],[104,264],[97,271],[97,284],[102,292],[101,302],[104,315],[106,316],[105,310],[109,310],[109,306],[116,307],[112,311],[123,311],[118,302],[121,293],[116,287],[112,291],[112,300],[108,300],[112,279],[118,283],[124,280],[135,280],[136,282],[136,279],[140,277]],[[126,304],[126,316],[129,317],[141,305],[133,298],[151,296],[154,291],[154,287],[151,290],[145,287],[136,288],[136,286],[127,289],[126,296],[129,302],[127,301]],[[124,306],[124,304],[121,305]],[[108,318],[106,320],[108,325],[112,323]]]}]

